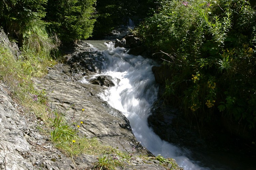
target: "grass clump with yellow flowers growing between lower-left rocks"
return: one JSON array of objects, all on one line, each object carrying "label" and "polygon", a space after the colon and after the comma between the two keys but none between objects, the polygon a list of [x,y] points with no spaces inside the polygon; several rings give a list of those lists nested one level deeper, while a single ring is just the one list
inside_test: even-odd
[{"label": "grass clump with yellow flowers growing between lower-left rocks", "polygon": [[87,139],[79,136],[80,124],[72,128],[58,109],[51,112],[51,117],[51,141],[71,158],[82,153],[97,155],[111,150],[111,147],[101,145],[96,138]]}]

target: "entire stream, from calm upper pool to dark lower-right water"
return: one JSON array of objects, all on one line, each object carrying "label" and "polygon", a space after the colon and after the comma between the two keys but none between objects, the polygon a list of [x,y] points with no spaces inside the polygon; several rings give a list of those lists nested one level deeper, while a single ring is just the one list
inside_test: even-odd
[{"label": "entire stream, from calm upper pool to dark lower-right water", "polygon": [[[115,48],[112,43],[104,44],[105,41],[94,40],[87,42],[92,44],[95,50],[102,52],[103,62],[101,74],[84,77],[82,82],[88,83],[100,75],[112,77],[115,86],[107,88],[99,95],[126,116],[130,121],[135,137],[143,147],[155,156],[160,154],[166,158],[175,158],[179,166],[185,170],[231,170],[241,168],[242,164],[236,162],[236,160],[242,161],[242,159],[236,157],[236,155],[219,152],[206,153],[205,151],[178,147],[178,145],[171,144],[157,136],[147,122],[159,91],[151,71],[152,66],[157,63],[142,56],[129,55],[126,49]],[[237,163],[235,165],[233,165],[233,156]],[[254,167],[253,165],[248,166],[248,162],[242,163],[244,169]]]}]

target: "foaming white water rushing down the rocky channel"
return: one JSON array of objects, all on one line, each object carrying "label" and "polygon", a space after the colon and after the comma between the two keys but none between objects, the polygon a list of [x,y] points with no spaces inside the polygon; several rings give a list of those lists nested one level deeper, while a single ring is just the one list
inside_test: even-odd
[{"label": "foaming white water rushing down the rocky channel", "polygon": [[[129,119],[137,140],[155,156],[161,154],[166,158],[175,158],[179,166],[185,170],[208,169],[199,167],[187,158],[190,151],[161,140],[149,128],[147,118],[151,114],[158,91],[151,71],[155,63],[141,56],[123,53],[123,48],[107,46],[108,50],[103,51],[104,62],[101,75],[110,75],[115,86],[105,90],[101,94],[102,99]],[[89,79],[91,78],[85,77],[84,82],[88,82]]]}]

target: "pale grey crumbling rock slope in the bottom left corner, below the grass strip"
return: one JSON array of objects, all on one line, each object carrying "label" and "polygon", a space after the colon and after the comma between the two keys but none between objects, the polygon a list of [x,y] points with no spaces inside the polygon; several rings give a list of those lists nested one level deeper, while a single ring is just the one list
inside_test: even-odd
[{"label": "pale grey crumbling rock slope in the bottom left corner, below the grass strip", "polygon": [[[67,169],[76,165],[39,133],[44,122],[23,111],[0,83],[0,166],[6,170]],[[24,109],[25,110],[25,109]]]}]

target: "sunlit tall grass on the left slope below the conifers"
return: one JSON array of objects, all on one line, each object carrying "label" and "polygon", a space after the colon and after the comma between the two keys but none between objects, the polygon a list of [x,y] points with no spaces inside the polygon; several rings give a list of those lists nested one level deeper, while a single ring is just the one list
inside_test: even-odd
[{"label": "sunlit tall grass on the left slope below the conifers", "polygon": [[[57,44],[56,44],[57,43]],[[33,21],[23,31],[23,46],[18,60],[9,47],[0,45],[1,79],[12,87],[21,101],[31,98],[34,93],[32,77],[43,77],[46,67],[53,65],[50,58],[52,50],[57,50],[57,37],[49,37],[41,21]]]}]

